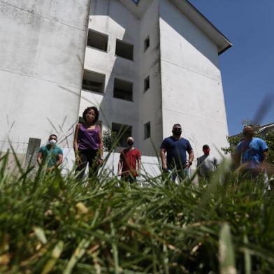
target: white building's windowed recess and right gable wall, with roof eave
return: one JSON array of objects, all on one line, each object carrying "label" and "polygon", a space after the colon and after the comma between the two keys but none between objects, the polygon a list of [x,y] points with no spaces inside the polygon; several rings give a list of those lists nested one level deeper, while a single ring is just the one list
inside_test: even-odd
[{"label": "white building's windowed recess and right gable wall, with roof eave", "polygon": [[80,115],[97,106],[103,129],[127,126],[145,155],[175,123],[196,156],[204,144],[218,154],[228,136],[218,55],[230,47],[188,1],[93,0]]}]

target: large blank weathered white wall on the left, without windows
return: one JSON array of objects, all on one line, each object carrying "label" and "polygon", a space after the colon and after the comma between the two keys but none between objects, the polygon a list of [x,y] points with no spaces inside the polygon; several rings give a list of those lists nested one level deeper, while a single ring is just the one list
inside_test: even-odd
[{"label": "large blank weathered white wall on the left, without windows", "polygon": [[[0,2],[0,140],[59,140],[78,117],[89,0]],[[3,145],[5,144],[5,145]],[[62,144],[72,145],[71,137]],[[18,147],[22,150],[22,147]]]}]

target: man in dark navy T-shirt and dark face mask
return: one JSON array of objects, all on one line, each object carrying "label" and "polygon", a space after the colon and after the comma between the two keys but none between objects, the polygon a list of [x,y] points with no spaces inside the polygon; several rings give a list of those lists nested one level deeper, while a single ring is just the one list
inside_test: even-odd
[{"label": "man in dark navy T-shirt and dark face mask", "polygon": [[[188,174],[189,167],[194,159],[194,152],[189,141],[182,138],[182,127],[180,124],[174,124],[172,128],[173,135],[165,138],[161,143],[161,166],[164,172],[175,171],[171,176],[175,181],[177,175],[181,179]],[[187,160],[187,153],[189,159]]]}]

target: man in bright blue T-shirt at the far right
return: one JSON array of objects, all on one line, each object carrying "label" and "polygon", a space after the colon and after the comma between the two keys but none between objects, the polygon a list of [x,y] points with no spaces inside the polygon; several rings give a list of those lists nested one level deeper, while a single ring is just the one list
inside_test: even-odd
[{"label": "man in bright blue T-shirt at the far right", "polygon": [[268,146],[261,138],[254,137],[254,128],[247,126],[243,129],[245,139],[237,145],[236,165],[242,164],[252,178],[260,173],[266,173],[264,161],[268,155]]}]

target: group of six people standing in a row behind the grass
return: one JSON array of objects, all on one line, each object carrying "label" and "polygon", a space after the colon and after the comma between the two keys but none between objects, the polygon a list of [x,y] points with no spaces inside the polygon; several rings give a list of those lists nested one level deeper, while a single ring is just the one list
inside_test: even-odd
[{"label": "group of six people standing in a row behind the grass", "polygon": [[[76,125],[73,149],[75,152],[75,173],[81,180],[85,175],[87,164],[89,177],[96,176],[99,167],[103,163],[103,139],[101,129],[96,122],[99,119],[99,110],[95,107],[86,108],[82,117],[85,122]],[[241,141],[236,150],[236,166],[243,165],[247,174],[252,178],[265,172],[268,146],[261,138],[254,138],[253,127],[245,127],[243,130],[245,139]],[[188,155],[188,157],[187,157]],[[189,177],[189,168],[194,161],[194,151],[189,140],[182,138],[182,127],[174,124],[172,136],[165,138],[160,148],[161,167],[164,173],[170,173],[173,181],[178,177],[183,180]],[[48,144],[38,151],[37,162],[39,165],[46,164],[48,171],[52,171],[62,164],[63,152],[57,146],[57,136],[51,134]],[[134,138],[127,138],[127,148],[120,153],[120,161],[117,167],[117,175],[123,180],[135,182],[141,168],[140,151],[134,147]],[[217,168],[217,159],[210,154],[210,147],[203,145],[203,156],[197,158],[199,176],[210,178]]]}]

